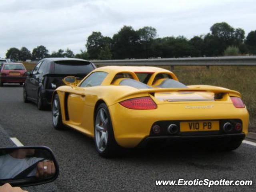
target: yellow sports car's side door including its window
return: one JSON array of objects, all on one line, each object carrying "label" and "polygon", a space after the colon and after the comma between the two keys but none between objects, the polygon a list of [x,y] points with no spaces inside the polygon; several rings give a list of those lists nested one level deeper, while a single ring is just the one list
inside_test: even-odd
[{"label": "yellow sports car's side door including its window", "polygon": [[[90,74],[79,87],[73,87],[72,93],[68,96],[68,114],[71,123],[86,127],[83,122],[88,122],[88,117],[91,116],[91,110],[93,110],[90,104],[92,92],[90,89],[94,86],[100,85],[106,77],[106,72],[94,72]],[[89,113],[89,114],[88,114]]]}]

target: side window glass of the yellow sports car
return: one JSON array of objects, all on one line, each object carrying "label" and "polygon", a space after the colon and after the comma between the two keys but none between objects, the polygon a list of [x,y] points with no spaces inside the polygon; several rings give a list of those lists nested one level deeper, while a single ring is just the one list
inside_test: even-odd
[{"label": "side window glass of the yellow sports car", "polygon": [[94,72],[90,74],[83,82],[80,87],[92,87],[102,84],[105,77],[108,75],[106,72]]}]

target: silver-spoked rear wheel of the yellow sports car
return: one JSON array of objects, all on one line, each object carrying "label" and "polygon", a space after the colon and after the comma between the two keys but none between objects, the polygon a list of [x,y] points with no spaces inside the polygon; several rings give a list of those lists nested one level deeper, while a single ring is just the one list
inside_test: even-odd
[{"label": "silver-spoked rear wheel of the yellow sports car", "polygon": [[98,106],[94,120],[94,142],[96,150],[102,157],[117,156],[121,147],[117,144],[108,107],[105,103]]}]

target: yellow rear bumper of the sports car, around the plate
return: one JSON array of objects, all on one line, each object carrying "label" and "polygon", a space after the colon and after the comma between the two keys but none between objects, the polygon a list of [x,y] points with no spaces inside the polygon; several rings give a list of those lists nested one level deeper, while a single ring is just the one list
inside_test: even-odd
[{"label": "yellow rear bumper of the sports car, around the plate", "polygon": [[[172,103],[158,105],[154,110],[132,110],[124,108],[119,103],[109,106],[112,126],[116,142],[125,148],[138,146],[144,139],[151,139],[152,126],[159,121],[204,121],[204,120],[241,120],[242,133],[248,133],[249,114],[246,108],[235,108],[232,103],[213,103],[213,108],[186,109],[187,103]],[[204,106],[204,102],[189,103],[190,106]],[[178,124],[179,125],[179,124]],[[164,134],[167,132],[168,125],[160,124],[163,130],[163,138],[175,139],[172,135]],[[222,124],[220,124],[221,128]],[[203,132],[203,133],[182,133],[177,134],[177,138],[212,138],[214,136],[227,135],[231,133]],[[237,134],[237,133],[236,133]],[[193,136],[192,136],[193,135]],[[167,137],[166,137],[167,136]],[[185,137],[186,136],[186,137]],[[224,136],[224,137],[225,137]],[[153,136],[157,138],[156,135]],[[161,138],[161,137],[160,137]]]}]

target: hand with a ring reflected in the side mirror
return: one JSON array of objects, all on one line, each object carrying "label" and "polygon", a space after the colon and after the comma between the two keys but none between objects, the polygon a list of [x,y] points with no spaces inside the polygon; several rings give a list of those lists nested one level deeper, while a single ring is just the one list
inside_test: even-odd
[{"label": "hand with a ring reflected in the side mirror", "polygon": [[55,174],[55,166],[53,161],[42,161],[37,164],[36,177],[45,178]]}]

